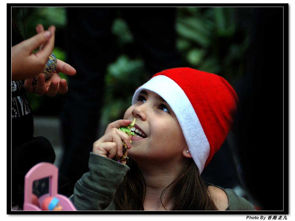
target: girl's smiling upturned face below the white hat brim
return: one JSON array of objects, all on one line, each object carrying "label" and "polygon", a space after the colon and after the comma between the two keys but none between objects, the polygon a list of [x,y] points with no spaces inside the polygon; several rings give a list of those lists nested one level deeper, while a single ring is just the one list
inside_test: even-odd
[{"label": "girl's smiling upturned face below the white hat brim", "polygon": [[124,119],[136,118],[130,156],[137,163],[182,162],[187,148],[179,122],[167,102],[155,92],[143,90],[137,103],[127,109]]}]

